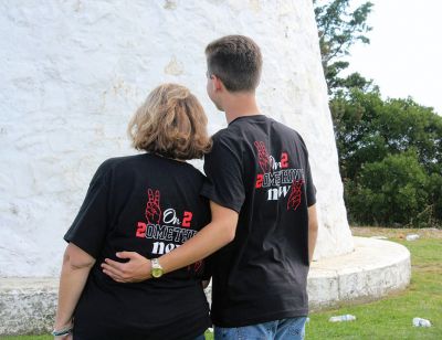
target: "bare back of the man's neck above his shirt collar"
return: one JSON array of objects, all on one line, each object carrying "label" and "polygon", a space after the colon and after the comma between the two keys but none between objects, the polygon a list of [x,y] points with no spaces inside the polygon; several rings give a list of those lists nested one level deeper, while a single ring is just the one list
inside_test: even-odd
[{"label": "bare back of the man's neck above his shirt collar", "polygon": [[228,123],[239,117],[261,115],[254,93],[229,94],[223,104]]}]

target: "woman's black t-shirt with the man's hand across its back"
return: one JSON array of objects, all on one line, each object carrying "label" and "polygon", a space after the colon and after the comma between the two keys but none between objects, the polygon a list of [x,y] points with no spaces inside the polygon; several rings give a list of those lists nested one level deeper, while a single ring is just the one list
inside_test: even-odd
[{"label": "woman's black t-shirt with the man's hand across its back", "polygon": [[210,327],[203,263],[136,284],[102,273],[120,251],[159,257],[210,222],[192,166],[155,155],[106,160],[64,238],[96,258],[74,312],[74,339],[193,339]]}]

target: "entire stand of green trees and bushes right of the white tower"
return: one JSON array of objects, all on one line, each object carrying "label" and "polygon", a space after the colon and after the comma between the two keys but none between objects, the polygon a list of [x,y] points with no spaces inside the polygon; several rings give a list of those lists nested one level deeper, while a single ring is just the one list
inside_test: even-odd
[{"label": "entire stand of green trees and bushes right of the white tower", "polygon": [[369,43],[371,2],[313,2],[350,222],[442,226],[442,117],[411,98],[383,100],[359,73],[339,76],[349,49]]}]

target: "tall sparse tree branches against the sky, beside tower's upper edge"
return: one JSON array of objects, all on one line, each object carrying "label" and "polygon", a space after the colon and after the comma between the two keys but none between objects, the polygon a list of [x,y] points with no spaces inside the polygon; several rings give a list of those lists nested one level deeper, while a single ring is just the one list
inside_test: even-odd
[{"label": "tall sparse tree branches against the sky, beside tower's upper edge", "polygon": [[313,3],[328,93],[333,95],[339,89],[351,87],[369,89],[372,82],[360,74],[350,74],[343,78],[339,73],[349,65],[343,57],[349,54],[350,46],[357,42],[370,42],[365,34],[371,30],[366,22],[372,3],[366,2],[354,11],[349,10],[349,0],[332,0],[326,3],[314,0]]}]

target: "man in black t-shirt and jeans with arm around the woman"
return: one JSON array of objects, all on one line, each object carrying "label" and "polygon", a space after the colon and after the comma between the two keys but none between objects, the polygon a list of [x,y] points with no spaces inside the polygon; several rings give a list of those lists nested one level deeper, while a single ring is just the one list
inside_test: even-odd
[{"label": "man in black t-shirt and jeans with arm around the woman", "polygon": [[215,338],[302,339],[316,244],[315,187],[301,136],[259,111],[262,56],[249,38],[229,35],[206,49],[207,92],[225,113],[213,136],[201,194],[212,222],[179,248],[150,261],[129,252],[104,273],[117,281],[160,276],[211,256]]}]

